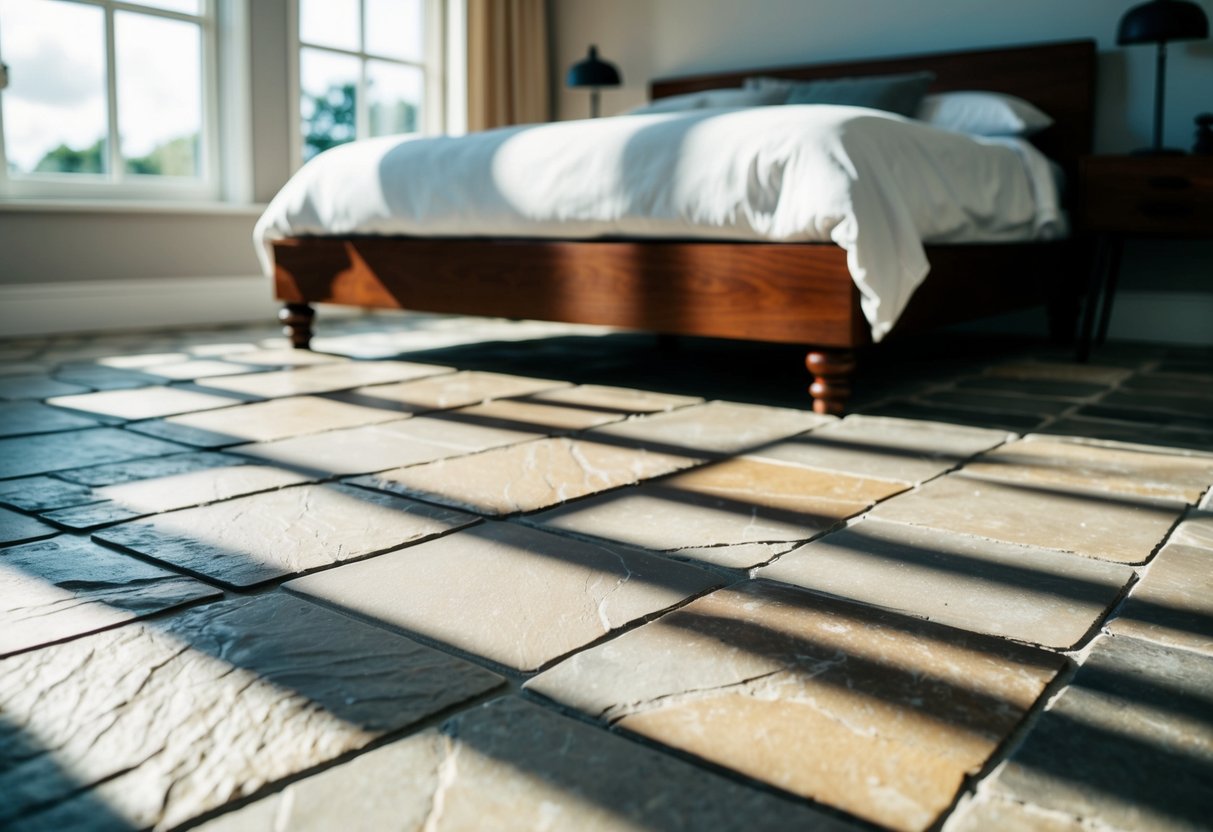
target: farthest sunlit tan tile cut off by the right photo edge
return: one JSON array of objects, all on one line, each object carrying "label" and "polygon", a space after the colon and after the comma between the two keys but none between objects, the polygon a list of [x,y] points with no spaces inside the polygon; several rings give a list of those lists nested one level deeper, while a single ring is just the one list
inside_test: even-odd
[{"label": "farthest sunlit tan tile cut off by the right photo edge", "polygon": [[1047,439],[1003,445],[964,466],[964,474],[1047,488],[1110,491],[1196,502],[1213,483],[1213,458]]}]

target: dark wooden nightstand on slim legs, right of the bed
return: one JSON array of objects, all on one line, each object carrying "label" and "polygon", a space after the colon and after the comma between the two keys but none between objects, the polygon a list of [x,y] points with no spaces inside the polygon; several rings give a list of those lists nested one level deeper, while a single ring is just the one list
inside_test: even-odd
[{"label": "dark wooden nightstand on slim legs, right of the bed", "polygon": [[[1107,336],[1126,237],[1213,239],[1213,156],[1086,156],[1076,229],[1094,235],[1078,360]],[[1100,297],[1103,300],[1100,301]]]}]

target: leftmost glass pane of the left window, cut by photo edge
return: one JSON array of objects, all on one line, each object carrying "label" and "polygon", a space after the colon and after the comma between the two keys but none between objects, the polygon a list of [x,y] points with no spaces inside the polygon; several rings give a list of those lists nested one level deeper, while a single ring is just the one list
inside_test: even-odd
[{"label": "leftmost glass pane of the left window, cut by photo edge", "polygon": [[106,170],[106,32],[95,6],[0,0],[0,51],[11,171]]}]

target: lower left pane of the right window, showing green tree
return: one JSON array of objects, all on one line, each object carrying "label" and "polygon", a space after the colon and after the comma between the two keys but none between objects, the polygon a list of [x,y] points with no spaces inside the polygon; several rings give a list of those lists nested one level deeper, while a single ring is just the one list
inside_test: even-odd
[{"label": "lower left pane of the right window, showing green tree", "polygon": [[358,74],[358,58],[300,50],[304,161],[354,139]]}]

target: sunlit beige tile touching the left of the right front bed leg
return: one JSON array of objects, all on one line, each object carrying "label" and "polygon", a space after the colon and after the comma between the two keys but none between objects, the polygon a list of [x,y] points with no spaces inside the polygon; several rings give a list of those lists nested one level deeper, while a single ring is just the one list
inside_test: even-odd
[{"label": "sunlit beige tile touching the left of the right front bed leg", "polygon": [[585,438],[707,457],[750,451],[833,421],[805,410],[708,401],[594,428]]}]

